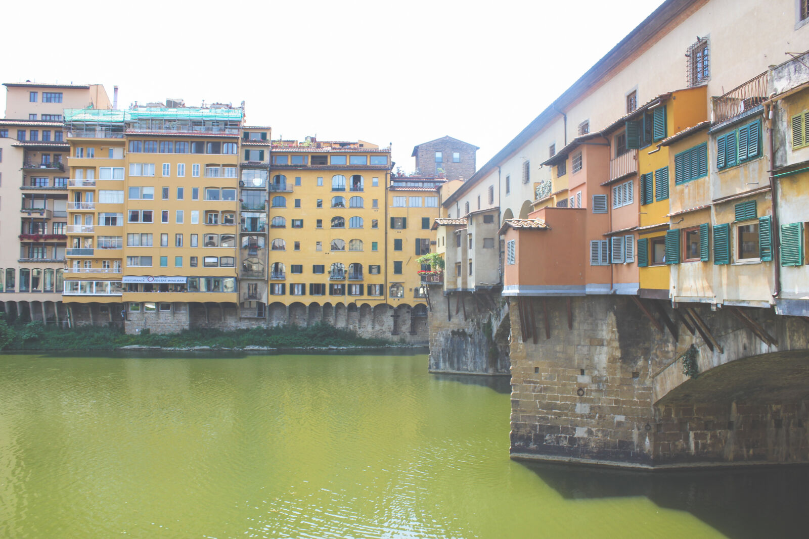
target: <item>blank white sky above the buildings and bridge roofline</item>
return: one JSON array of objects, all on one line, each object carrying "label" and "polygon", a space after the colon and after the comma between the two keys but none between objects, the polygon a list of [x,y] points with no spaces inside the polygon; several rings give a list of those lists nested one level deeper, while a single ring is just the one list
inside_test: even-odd
[{"label": "blank white sky above the buildings and bridge roofline", "polygon": [[273,138],[392,142],[412,171],[413,145],[450,135],[482,166],[660,3],[7,2],[0,82],[244,99]]}]

